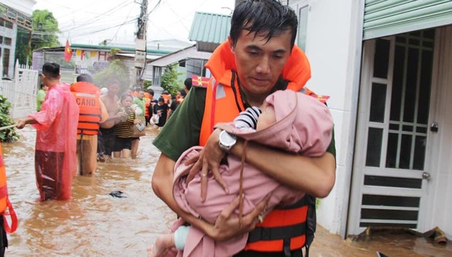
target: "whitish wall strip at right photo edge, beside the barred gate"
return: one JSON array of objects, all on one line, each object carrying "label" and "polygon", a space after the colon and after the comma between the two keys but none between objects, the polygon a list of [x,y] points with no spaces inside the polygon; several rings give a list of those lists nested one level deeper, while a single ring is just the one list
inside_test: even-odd
[{"label": "whitish wall strip at right photo edge, beside the barred gate", "polygon": [[[439,130],[433,135],[433,144],[437,145],[433,150],[432,169],[436,172],[430,179],[431,190],[429,192],[427,228],[439,226],[452,239],[452,26],[438,28],[435,47],[439,47],[439,56],[434,64],[434,81],[438,85],[436,115],[434,122],[438,123]],[[437,75],[437,78],[435,78]]]}]

